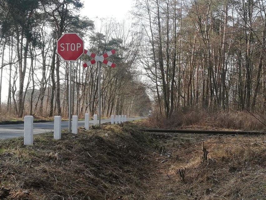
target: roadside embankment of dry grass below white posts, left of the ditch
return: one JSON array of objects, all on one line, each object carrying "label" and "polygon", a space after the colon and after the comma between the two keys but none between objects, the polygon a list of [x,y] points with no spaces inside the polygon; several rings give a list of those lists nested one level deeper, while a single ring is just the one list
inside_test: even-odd
[{"label": "roadside embankment of dry grass below white posts, left of the ditch", "polygon": [[153,164],[149,138],[136,127],[80,129],[77,135],[1,141],[0,199],[141,199]]}]

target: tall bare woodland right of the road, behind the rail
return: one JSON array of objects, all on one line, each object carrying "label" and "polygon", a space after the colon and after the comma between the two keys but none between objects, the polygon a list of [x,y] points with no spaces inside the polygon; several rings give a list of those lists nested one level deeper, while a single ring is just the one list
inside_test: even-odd
[{"label": "tall bare woodland right of the road, behind the rail", "polygon": [[264,0],[137,0],[144,44],[138,59],[160,113],[264,112],[265,6]]}]

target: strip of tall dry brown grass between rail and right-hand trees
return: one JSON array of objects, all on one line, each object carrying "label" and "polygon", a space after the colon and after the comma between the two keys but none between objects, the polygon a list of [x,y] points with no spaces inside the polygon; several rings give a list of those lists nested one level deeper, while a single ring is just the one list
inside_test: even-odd
[{"label": "strip of tall dry brown grass between rail and right-hand trees", "polygon": [[155,112],[145,122],[145,126],[158,128],[188,128],[196,129],[234,129],[243,131],[265,131],[266,120],[263,115],[248,112],[189,110],[173,115],[170,120]]}]

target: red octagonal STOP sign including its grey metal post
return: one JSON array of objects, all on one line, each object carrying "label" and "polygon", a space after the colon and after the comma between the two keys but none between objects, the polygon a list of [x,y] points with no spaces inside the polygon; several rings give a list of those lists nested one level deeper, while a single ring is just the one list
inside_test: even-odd
[{"label": "red octagonal STOP sign including its grey metal post", "polygon": [[69,66],[69,110],[68,110],[68,132],[71,133],[71,90],[72,90],[72,61],[76,61],[84,54],[84,41],[77,33],[64,33],[57,40],[57,54],[65,61],[70,61]]}]

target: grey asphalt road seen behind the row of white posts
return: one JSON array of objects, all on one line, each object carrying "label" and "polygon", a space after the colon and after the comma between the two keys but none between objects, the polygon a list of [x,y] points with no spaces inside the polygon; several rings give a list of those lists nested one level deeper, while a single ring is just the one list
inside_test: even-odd
[{"label": "grey asphalt road seen behind the row of white posts", "polygon": [[[126,118],[127,121],[139,120],[137,118]],[[111,119],[101,119],[101,124],[111,122]],[[78,121],[78,126],[84,126],[85,121]],[[90,125],[93,125],[93,120],[90,120]],[[61,129],[68,129],[68,121],[62,121]],[[53,132],[54,122],[33,123],[33,134],[41,134]],[[24,136],[24,124],[0,125],[0,139],[8,139]]]}]

